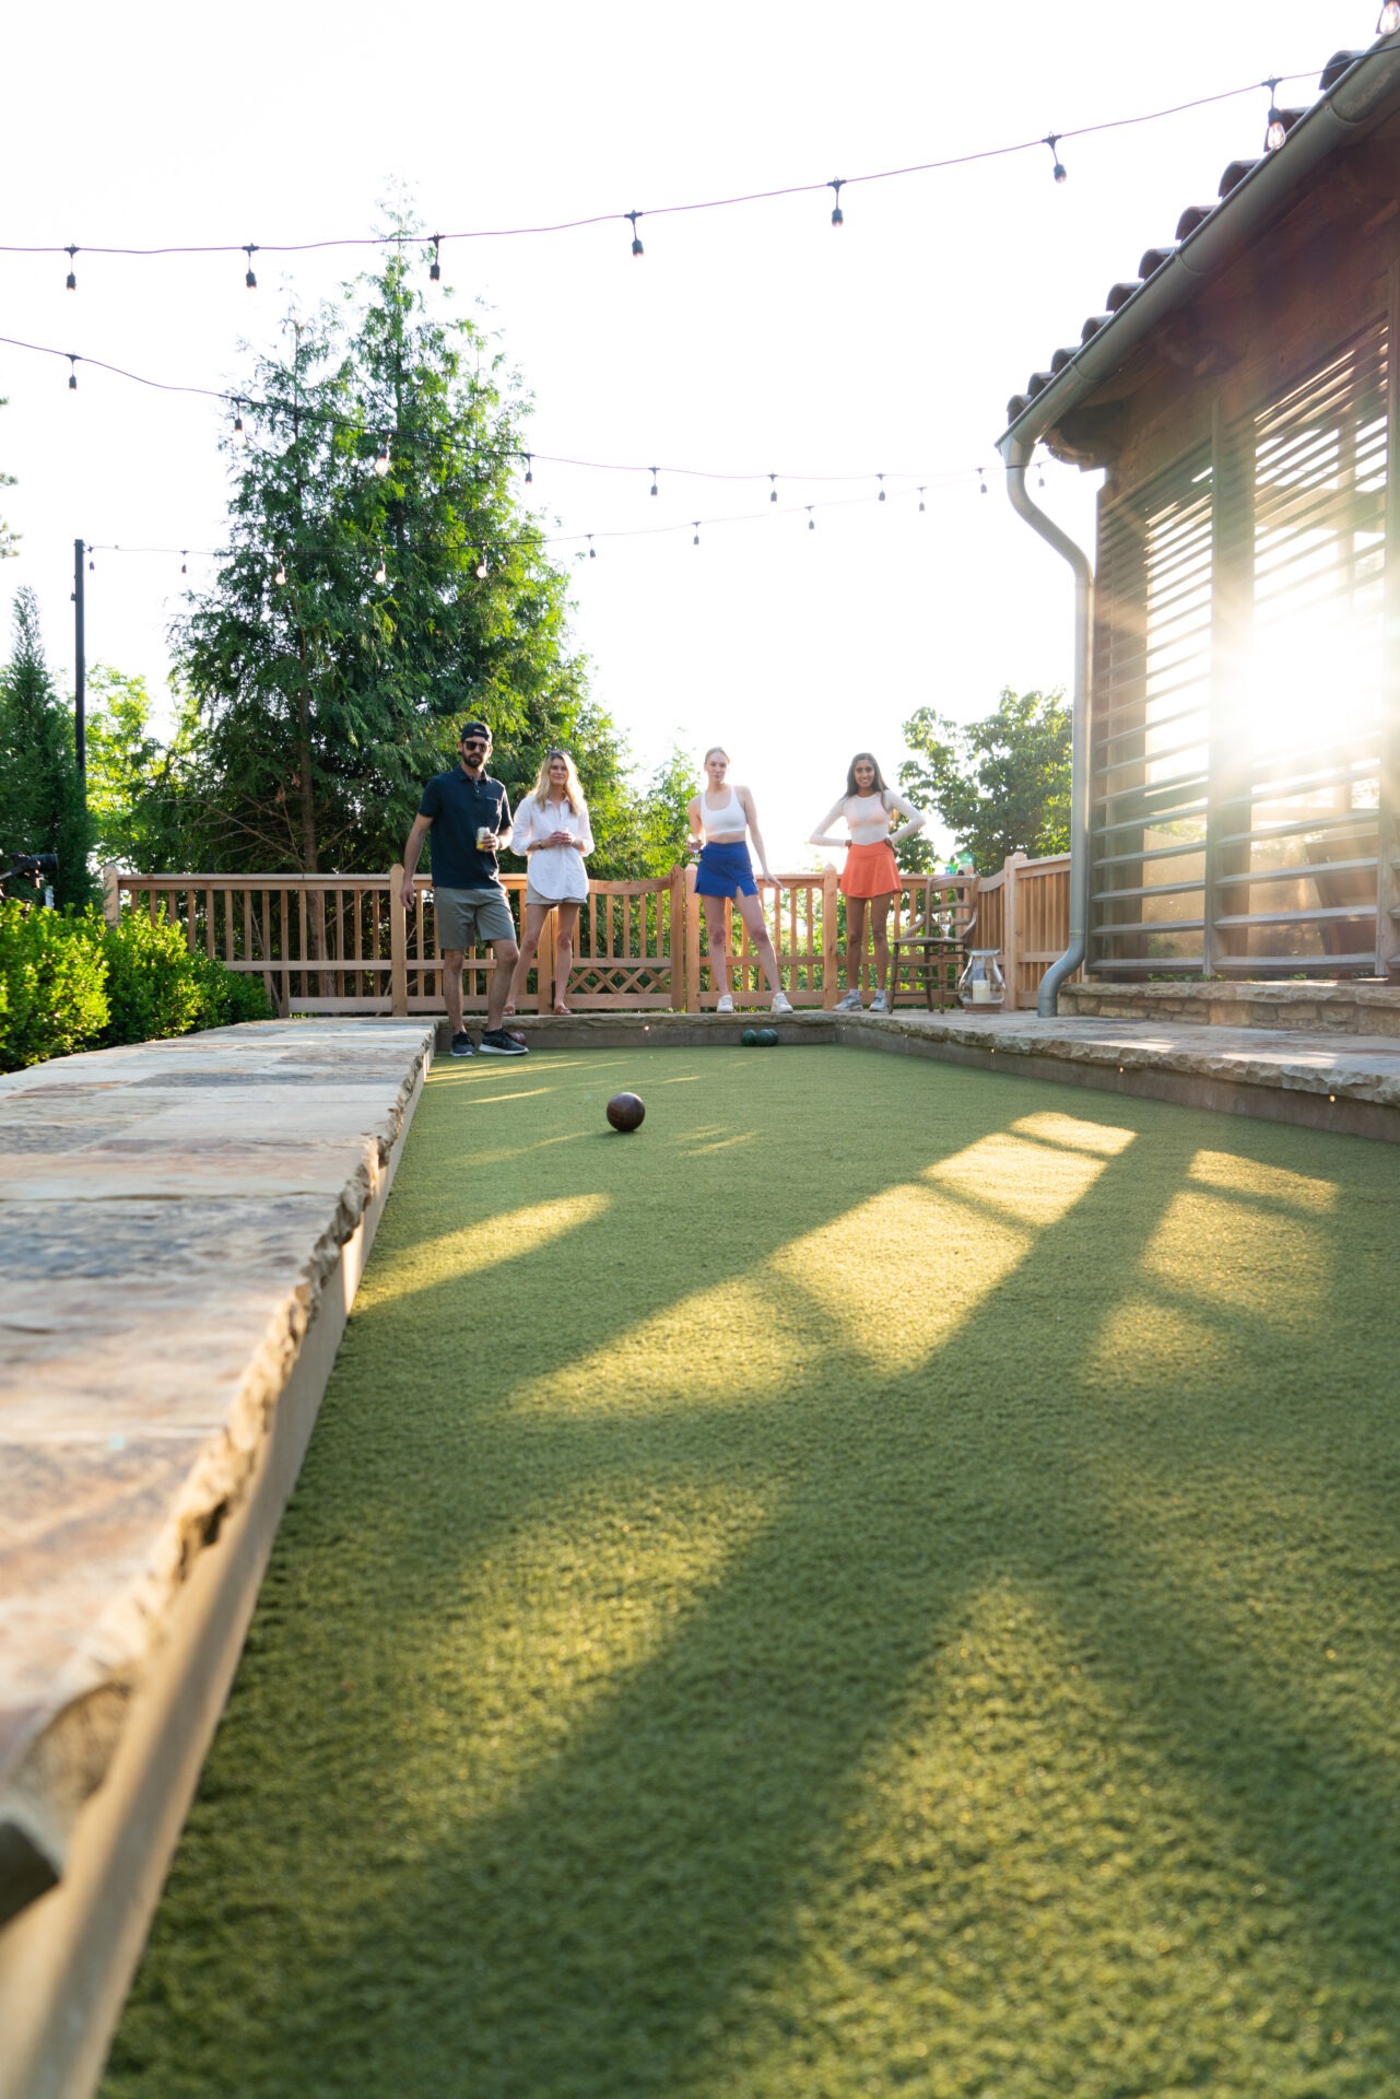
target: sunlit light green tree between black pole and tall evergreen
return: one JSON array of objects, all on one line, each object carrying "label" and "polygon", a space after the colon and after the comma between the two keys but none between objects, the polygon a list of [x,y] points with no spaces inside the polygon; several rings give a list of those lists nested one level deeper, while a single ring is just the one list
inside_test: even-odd
[{"label": "sunlit light green tree between black pole and tall evergreen", "polygon": [[174,737],[151,733],[145,678],[88,672],[88,808],[99,861],[172,873],[187,861],[201,785],[199,722],[183,701]]}]

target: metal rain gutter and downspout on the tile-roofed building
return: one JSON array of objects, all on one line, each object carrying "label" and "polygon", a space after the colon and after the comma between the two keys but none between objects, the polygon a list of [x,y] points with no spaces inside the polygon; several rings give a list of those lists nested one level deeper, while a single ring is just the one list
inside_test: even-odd
[{"label": "metal rain gutter and downspout on the tile-roofed building", "polygon": [[1066,976],[1081,966],[1087,947],[1089,892],[1089,646],[1094,611],[1094,571],[1083,548],[1026,495],[1026,462],[1035,445],[1104,380],[1125,363],[1161,321],[1215,271],[1232,262],[1251,235],[1264,231],[1299,185],[1339,147],[1354,145],[1371,130],[1394,92],[1400,88],[1400,31],[1362,52],[1341,73],[1333,88],[1308,109],[1285,143],[1266,153],[1245,174],[1215,210],[1186,235],[1180,248],[1152,271],[1110,321],[1026,401],[1020,416],[997,439],[1005,462],[1005,489],[1012,508],[1033,531],[1047,539],[1075,571],[1075,726],[1070,787],[1070,945],[1045,972],[1039,993],[1041,1018],[1054,1018],[1056,995]]}]

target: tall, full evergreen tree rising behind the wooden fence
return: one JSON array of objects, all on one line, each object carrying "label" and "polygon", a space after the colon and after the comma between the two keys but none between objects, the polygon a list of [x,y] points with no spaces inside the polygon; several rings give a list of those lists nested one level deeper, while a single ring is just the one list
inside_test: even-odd
[{"label": "tall, full evergreen tree rising behind the wooden fence", "polygon": [[225,441],[231,550],[174,630],[204,724],[199,865],[388,867],[468,709],[497,756],[581,720],[565,577],[512,493],[525,401],[502,363],[437,296],[426,311],[401,250],[348,321],[321,309],[256,363],[256,437]]}]

